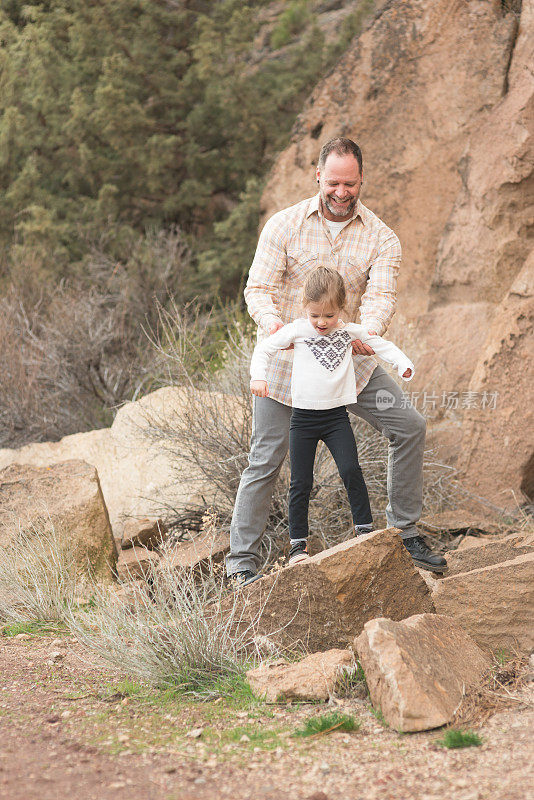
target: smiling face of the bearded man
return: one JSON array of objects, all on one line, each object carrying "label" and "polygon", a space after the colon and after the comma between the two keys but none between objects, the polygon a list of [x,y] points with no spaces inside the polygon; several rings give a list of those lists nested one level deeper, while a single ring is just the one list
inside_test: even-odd
[{"label": "smiling face of the bearded man", "polygon": [[322,170],[317,168],[323,214],[331,222],[345,222],[354,213],[362,185],[357,159],[350,153],[330,153]]}]

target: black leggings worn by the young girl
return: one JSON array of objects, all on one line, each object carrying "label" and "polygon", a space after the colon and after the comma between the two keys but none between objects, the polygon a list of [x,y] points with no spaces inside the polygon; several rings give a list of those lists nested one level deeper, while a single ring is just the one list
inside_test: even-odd
[{"label": "black leggings worn by the young girl", "polygon": [[358,463],[358,450],[345,406],[320,411],[294,408],[289,428],[291,539],[305,539],[308,536],[313,463],[320,441],[326,444],[336,462],[347,490],[354,524],[369,525],[373,521],[367,486]]}]

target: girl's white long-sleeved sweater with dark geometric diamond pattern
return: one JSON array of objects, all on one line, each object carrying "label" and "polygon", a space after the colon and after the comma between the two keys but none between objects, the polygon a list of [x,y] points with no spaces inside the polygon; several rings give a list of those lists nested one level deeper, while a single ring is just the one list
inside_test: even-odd
[{"label": "girl's white long-sleeved sweater with dark geometric diamond pattern", "polygon": [[[371,336],[361,325],[341,324],[327,335],[317,333],[307,319],[284,325],[267,339],[258,342],[252,354],[250,376],[253,381],[267,380],[267,366],[277,350],[294,345],[291,373],[291,402],[294,408],[326,409],[356,402],[356,378],[351,343],[360,339],[375,353],[397,368],[399,375],[414,365],[391,342]],[[405,378],[410,380],[411,378]]]}]

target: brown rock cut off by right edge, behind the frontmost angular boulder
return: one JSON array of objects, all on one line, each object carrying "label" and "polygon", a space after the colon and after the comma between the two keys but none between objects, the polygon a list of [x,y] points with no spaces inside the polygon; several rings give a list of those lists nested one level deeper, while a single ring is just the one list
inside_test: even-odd
[{"label": "brown rock cut off by right edge, behind the frontmost angular boulder", "polygon": [[534,648],[533,552],[436,581],[432,598],[438,614],[454,617],[483,650]]}]

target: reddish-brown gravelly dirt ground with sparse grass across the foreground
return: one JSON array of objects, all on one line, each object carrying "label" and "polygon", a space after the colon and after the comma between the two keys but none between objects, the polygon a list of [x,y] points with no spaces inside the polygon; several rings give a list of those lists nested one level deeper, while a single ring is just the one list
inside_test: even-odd
[{"label": "reddish-brown gravelly dirt ground with sparse grass across the foreground", "polygon": [[317,706],[147,702],[68,637],[0,639],[0,676],[2,800],[534,800],[532,707],[492,717],[482,746],[446,750],[440,732],[394,733],[357,698],[342,704],[357,733],[312,741],[291,733]]}]

